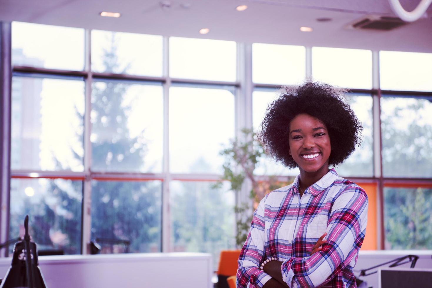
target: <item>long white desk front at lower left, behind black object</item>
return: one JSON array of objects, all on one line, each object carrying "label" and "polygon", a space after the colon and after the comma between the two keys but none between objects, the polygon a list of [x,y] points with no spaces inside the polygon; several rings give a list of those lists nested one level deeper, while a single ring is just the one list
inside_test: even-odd
[{"label": "long white desk front at lower left, behind black object", "polygon": [[[11,258],[0,258],[0,278]],[[208,253],[39,256],[48,288],[211,288]]]}]

